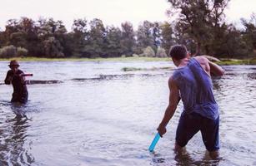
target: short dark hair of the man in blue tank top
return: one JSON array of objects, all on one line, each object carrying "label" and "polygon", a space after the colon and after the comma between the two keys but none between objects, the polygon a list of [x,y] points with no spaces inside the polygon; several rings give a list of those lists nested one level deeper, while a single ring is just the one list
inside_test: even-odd
[{"label": "short dark hair of the man in blue tank top", "polygon": [[181,60],[188,55],[188,51],[186,46],[175,45],[170,48],[168,55],[174,58],[175,60]]}]

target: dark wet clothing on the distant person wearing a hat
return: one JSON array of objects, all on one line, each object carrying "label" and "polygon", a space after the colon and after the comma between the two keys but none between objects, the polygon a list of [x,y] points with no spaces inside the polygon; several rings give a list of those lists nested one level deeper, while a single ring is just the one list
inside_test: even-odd
[{"label": "dark wet clothing on the distant person wearing a hat", "polygon": [[[6,84],[12,83],[13,85],[13,98],[12,102],[21,102],[26,103],[28,101],[28,89],[25,81],[22,81],[22,78],[18,75],[23,74],[23,71],[18,70],[14,75],[13,71],[8,71],[8,74],[5,79]],[[8,77],[13,77],[12,82],[8,81]]]}]

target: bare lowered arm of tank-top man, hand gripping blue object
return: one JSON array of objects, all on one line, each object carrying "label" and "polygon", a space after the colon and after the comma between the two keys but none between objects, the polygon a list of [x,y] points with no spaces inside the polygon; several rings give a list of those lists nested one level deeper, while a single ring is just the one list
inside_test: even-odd
[{"label": "bare lowered arm of tank-top man, hand gripping blue object", "polygon": [[169,103],[168,107],[165,110],[163,120],[158,126],[158,133],[161,135],[161,137],[163,136],[163,134],[166,133],[166,125],[168,125],[169,120],[172,119],[173,114],[177,108],[178,101],[180,100],[178,96],[178,87],[172,80],[172,78],[169,79],[168,86],[170,90]]}]

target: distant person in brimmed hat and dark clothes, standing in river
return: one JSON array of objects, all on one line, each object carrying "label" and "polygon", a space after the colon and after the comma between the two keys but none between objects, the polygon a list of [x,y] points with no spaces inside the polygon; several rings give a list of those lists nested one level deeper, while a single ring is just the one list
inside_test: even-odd
[{"label": "distant person in brimmed hat and dark clothes, standing in river", "polygon": [[23,71],[19,70],[18,61],[10,61],[9,67],[11,70],[8,71],[4,83],[7,85],[13,85],[13,98],[11,102],[20,102],[22,104],[28,101],[28,89],[25,81]]}]

